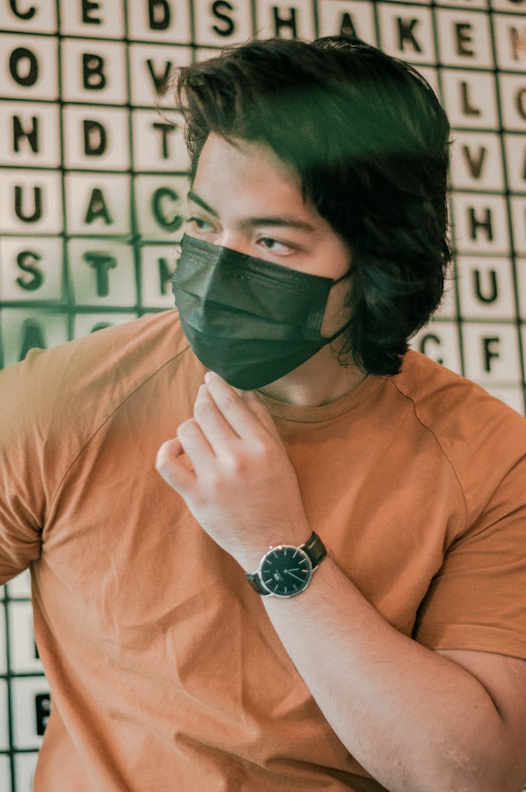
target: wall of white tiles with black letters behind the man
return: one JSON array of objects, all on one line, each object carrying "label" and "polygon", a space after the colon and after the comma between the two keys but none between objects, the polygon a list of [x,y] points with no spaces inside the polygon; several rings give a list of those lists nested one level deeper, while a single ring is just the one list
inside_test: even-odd
[{"label": "wall of white tiles with black letters behind the man", "polygon": [[[443,307],[413,346],[524,414],[526,0],[0,0],[0,366],[172,307],[187,157],[173,69],[250,36],[356,32],[452,121]],[[50,711],[29,574],[0,588],[0,790]]]}]

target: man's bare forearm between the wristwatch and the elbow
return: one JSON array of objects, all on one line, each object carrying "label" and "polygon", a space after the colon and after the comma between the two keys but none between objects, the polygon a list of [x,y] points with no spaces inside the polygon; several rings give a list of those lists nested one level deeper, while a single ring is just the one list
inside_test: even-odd
[{"label": "man's bare forearm between the wristwatch and the elbow", "polygon": [[482,684],[394,630],[326,558],[273,626],[341,741],[390,792],[503,790],[505,727]]}]

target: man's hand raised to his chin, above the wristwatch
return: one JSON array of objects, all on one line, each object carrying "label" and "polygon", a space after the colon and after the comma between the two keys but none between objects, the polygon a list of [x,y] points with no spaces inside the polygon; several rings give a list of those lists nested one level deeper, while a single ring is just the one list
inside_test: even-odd
[{"label": "man's hand raised to his chin, above the wristwatch", "polygon": [[155,466],[246,572],[269,546],[299,545],[311,534],[273,418],[253,391],[237,391],[219,375],[205,375],[193,417],[162,444]]}]

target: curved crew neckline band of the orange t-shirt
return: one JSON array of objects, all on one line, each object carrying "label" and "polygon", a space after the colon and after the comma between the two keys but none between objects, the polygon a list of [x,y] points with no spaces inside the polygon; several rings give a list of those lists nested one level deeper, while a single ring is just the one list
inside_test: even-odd
[{"label": "curved crew neckline band of the orange t-shirt", "polygon": [[280,418],[284,421],[295,421],[301,424],[311,424],[318,421],[330,421],[332,418],[349,413],[349,410],[355,409],[364,402],[385,379],[387,378],[369,374],[356,388],[349,390],[348,394],[341,396],[334,402],[318,407],[304,407],[288,404],[288,402],[280,402],[277,399],[259,393],[259,391],[257,391],[257,396],[274,418]]}]

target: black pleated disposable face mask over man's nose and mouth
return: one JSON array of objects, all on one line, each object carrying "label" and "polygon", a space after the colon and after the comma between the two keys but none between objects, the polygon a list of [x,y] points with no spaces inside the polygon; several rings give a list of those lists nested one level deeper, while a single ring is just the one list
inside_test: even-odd
[{"label": "black pleated disposable face mask over man's nose and mouth", "polygon": [[201,363],[241,390],[273,383],[330,338],[320,335],[332,280],[183,237],[172,291]]}]

